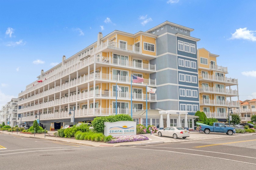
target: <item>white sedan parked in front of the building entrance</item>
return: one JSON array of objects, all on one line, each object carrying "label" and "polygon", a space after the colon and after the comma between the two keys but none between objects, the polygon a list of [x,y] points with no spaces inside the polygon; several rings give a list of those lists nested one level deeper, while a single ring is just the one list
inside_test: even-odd
[{"label": "white sedan parked in front of the building entrance", "polygon": [[182,127],[166,127],[162,130],[157,131],[158,136],[171,136],[174,139],[177,139],[178,137],[182,137],[185,139],[186,137],[189,137],[189,131],[183,129]]}]

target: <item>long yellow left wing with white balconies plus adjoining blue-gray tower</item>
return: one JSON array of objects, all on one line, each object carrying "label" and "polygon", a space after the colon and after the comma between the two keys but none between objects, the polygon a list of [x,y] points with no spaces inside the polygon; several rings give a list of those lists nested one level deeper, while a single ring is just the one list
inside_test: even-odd
[{"label": "long yellow left wing with white balconies plus adjoining blue-gray tower", "polygon": [[[199,39],[190,36],[193,30],[166,21],[135,34],[99,33],[97,42],[67,59],[63,56],[60,64],[42,70],[19,94],[22,122],[30,124],[40,115],[40,123],[58,129],[61,123],[70,123],[69,109],[75,109],[75,122],[116,114],[116,82],[122,89],[117,92],[117,114],[130,114],[131,107],[133,112],[146,109],[147,84],[157,88],[157,94],[148,94],[148,109],[187,110],[194,115],[199,108]],[[130,88],[131,75],[144,82]]]}]

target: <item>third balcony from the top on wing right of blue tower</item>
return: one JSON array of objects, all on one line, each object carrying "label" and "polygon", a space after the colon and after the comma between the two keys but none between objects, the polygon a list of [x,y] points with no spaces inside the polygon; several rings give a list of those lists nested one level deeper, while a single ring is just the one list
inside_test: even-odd
[{"label": "third balcony from the top on wing right of blue tower", "polygon": [[214,88],[214,87],[200,87],[199,88],[200,93],[211,93],[211,94],[220,94],[220,95],[226,95],[226,97],[229,96],[238,96],[237,90],[229,90],[225,88]]}]

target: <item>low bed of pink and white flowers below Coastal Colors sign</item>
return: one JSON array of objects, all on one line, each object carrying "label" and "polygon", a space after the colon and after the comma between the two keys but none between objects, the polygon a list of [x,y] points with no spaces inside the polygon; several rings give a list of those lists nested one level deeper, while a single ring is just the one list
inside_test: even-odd
[{"label": "low bed of pink and white flowers below Coastal Colors sign", "polygon": [[120,142],[133,142],[133,141],[144,141],[149,140],[148,137],[143,135],[126,135],[126,136],[114,136],[111,141],[106,143],[120,143]]}]

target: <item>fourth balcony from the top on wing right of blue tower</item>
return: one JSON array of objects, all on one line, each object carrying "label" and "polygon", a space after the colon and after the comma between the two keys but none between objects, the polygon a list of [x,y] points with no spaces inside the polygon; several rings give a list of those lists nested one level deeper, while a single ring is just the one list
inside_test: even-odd
[{"label": "fourth balcony from the top on wing right of blue tower", "polygon": [[224,100],[200,100],[201,106],[222,106],[222,107],[239,107],[239,103],[236,101],[224,101]]}]

